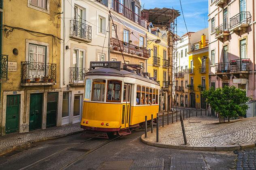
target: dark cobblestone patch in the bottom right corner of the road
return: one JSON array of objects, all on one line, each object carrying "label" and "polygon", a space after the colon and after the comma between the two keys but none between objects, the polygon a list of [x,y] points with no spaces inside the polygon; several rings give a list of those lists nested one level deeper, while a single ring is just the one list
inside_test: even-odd
[{"label": "dark cobblestone patch in the bottom right corner of the road", "polygon": [[256,149],[237,153],[237,170],[256,170]]}]

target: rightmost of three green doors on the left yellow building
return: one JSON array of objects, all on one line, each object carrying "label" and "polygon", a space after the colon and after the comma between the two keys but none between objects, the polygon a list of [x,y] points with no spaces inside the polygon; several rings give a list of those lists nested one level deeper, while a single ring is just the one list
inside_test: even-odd
[{"label": "rightmost of three green doors on the left yellow building", "polygon": [[56,126],[58,93],[48,93],[46,127]]}]

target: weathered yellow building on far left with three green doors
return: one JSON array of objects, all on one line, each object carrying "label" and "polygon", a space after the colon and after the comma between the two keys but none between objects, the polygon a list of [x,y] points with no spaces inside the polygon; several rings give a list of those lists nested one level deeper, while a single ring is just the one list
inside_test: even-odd
[{"label": "weathered yellow building on far left with three green doors", "polygon": [[61,0],[3,0],[0,4],[1,58],[8,58],[0,67],[0,133],[60,126]]}]

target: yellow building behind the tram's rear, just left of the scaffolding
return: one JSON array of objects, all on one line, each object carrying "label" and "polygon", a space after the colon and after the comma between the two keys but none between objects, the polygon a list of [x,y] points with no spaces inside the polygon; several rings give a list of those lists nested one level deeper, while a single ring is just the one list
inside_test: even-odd
[{"label": "yellow building behind the tram's rear, just left of the scaffolding", "polygon": [[149,25],[151,32],[147,33],[147,47],[150,51],[150,58],[147,60],[147,72],[150,77],[155,77],[156,81],[160,83],[162,93],[160,93],[160,111],[167,110],[168,108],[168,44],[167,34],[161,34],[160,29],[153,28]]}]

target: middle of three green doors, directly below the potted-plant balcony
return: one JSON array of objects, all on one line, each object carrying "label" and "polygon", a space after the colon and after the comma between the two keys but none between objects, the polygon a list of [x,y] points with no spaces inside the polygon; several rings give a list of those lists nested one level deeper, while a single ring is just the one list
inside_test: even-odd
[{"label": "middle of three green doors, directly below the potted-plant balcony", "polygon": [[29,130],[42,127],[43,93],[30,95]]}]

